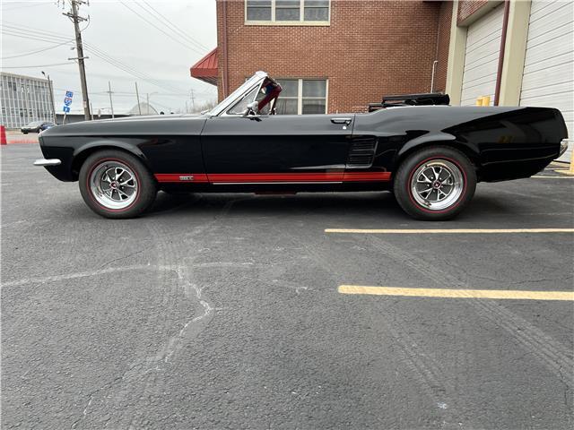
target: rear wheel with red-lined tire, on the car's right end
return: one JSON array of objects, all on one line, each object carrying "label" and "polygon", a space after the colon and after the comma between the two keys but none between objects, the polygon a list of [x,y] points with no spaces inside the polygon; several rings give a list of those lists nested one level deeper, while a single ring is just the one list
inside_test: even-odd
[{"label": "rear wheel with red-lined tire, on the car's right end", "polygon": [[394,191],[401,208],[415,219],[452,219],[465,209],[476,188],[471,161],[453,148],[419,150],[401,164]]}]

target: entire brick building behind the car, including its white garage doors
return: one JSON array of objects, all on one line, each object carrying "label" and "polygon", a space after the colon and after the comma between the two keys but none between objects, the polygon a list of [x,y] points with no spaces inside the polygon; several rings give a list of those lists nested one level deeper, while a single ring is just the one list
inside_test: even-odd
[{"label": "entire brick building behind the car, including its white garage doors", "polygon": [[571,0],[217,0],[218,46],[191,73],[222,99],[265,70],[293,114],[432,85],[453,105],[557,107],[571,138],[573,35]]}]

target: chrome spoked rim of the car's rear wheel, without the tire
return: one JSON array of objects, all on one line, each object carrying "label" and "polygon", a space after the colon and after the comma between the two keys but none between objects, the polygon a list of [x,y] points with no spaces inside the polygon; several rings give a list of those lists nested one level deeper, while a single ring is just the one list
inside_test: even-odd
[{"label": "chrome spoked rim of the car's rear wheel, without the tire", "polygon": [[432,159],[417,168],[411,179],[414,200],[431,211],[441,211],[457,202],[463,193],[465,176],[446,159]]}]

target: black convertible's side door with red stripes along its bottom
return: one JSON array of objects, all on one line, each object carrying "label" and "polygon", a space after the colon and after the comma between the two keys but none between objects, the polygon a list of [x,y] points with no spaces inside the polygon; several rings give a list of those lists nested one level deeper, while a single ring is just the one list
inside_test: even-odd
[{"label": "black convertible's side door with red stripes along its bottom", "polygon": [[201,135],[214,184],[342,182],[353,115],[212,116]]}]

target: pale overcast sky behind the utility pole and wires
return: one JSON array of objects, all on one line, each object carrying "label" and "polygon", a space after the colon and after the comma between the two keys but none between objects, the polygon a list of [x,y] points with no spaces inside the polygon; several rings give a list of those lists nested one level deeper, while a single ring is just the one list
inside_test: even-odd
[{"label": "pale overcast sky behind the utility pole and wires", "polygon": [[[41,71],[49,73],[57,112],[62,109],[65,90],[74,91],[72,112],[83,112],[78,65],[67,60],[77,56],[71,49],[74,24],[62,14],[69,2],[63,7],[62,0],[0,1],[2,70],[40,78]],[[91,0],[89,6],[82,5],[80,14],[90,15],[90,22],[83,22],[81,28],[85,28],[82,35],[87,45],[84,56],[90,57],[86,74],[95,114],[99,109],[109,112],[109,95],[103,92],[108,90],[108,81],[115,92],[116,113],[135,106],[136,81],[140,100],[149,94],[150,104],[166,113],[185,111],[186,102],[191,107],[191,90],[196,106],[217,98],[213,85],[189,75],[189,67],[217,45],[215,0]],[[43,51],[35,52],[39,50]],[[115,60],[144,76],[135,77],[109,63]],[[26,67],[37,65],[41,67]]]}]

